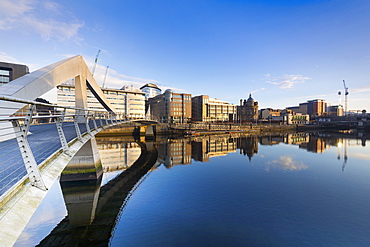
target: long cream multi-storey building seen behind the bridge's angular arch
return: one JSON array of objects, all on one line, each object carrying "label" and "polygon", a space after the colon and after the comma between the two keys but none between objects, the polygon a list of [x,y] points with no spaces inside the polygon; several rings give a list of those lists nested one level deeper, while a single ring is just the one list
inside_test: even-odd
[{"label": "long cream multi-storey building seen behind the bridge's angular arch", "polygon": [[[73,82],[63,83],[57,86],[58,105],[75,107],[75,87]],[[128,117],[140,117],[145,115],[145,94],[134,87],[122,89],[101,89],[109,102],[116,108],[118,113]],[[87,89],[87,107],[89,109],[104,110],[92,92]]]}]

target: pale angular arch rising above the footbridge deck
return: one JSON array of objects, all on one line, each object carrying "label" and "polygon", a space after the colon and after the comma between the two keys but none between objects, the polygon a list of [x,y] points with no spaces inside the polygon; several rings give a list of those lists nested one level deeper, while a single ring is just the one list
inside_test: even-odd
[{"label": "pale angular arch rising above the footbridge deck", "polygon": [[[77,108],[87,108],[86,87],[88,87],[107,111],[115,112],[115,108],[108,102],[80,55],[48,65],[3,85],[0,87],[0,95],[35,100],[72,78],[75,79],[76,84]],[[2,102],[1,105],[8,107],[8,109],[1,108],[1,116],[13,114],[17,106],[19,109],[23,107],[13,102]]]}]

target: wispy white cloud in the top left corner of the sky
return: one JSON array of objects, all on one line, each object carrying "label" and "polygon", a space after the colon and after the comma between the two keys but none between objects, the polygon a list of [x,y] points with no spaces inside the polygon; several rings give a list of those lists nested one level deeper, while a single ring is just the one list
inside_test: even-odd
[{"label": "wispy white cloud in the top left corner of the sky", "polygon": [[53,1],[1,0],[0,30],[34,31],[43,40],[80,42],[78,31],[84,23]]}]

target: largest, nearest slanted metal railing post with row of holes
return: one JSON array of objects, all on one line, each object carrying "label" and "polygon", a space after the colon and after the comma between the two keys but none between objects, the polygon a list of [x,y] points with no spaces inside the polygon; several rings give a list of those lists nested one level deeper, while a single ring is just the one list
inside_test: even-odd
[{"label": "largest, nearest slanted metal railing post with row of holes", "polygon": [[14,133],[17,139],[19,150],[21,151],[24,165],[26,167],[28,177],[30,179],[31,185],[39,189],[46,190],[44,181],[42,180],[41,173],[37,167],[35,157],[33,156],[30,145],[27,141],[27,133],[30,128],[32,121],[32,114],[35,109],[35,105],[31,105],[28,110],[27,116],[24,120],[23,126],[19,124],[18,120],[13,120]]}]

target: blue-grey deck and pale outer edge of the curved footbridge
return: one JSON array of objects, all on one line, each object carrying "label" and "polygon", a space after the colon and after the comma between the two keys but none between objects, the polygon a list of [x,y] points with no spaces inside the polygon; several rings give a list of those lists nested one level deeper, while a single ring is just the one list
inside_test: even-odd
[{"label": "blue-grey deck and pale outer edge of the curved footbridge", "polygon": [[[62,149],[60,143],[58,143],[60,141],[56,134],[55,124],[33,126],[30,129],[32,134],[29,135],[27,139],[32,151],[35,153],[35,158],[37,157],[37,164],[39,168],[41,168],[40,173],[46,188],[51,188],[72,157],[87,141],[100,131],[124,122],[125,121],[110,123],[100,126],[97,129],[92,129],[91,135],[87,133],[85,124],[79,124],[81,132],[84,132],[84,134],[82,134],[81,140],[77,139],[77,141],[75,141],[76,131],[74,126],[72,128],[68,123],[65,125],[63,124],[63,129],[66,128],[66,130],[68,130],[66,131],[66,139],[70,141],[69,155],[61,152]],[[91,122],[89,122],[89,126],[91,127]],[[6,145],[4,143],[6,143]],[[9,140],[0,144],[3,145],[0,148],[4,148],[4,150],[1,149],[2,155],[11,156],[10,152],[13,151],[14,154],[12,157],[15,156],[16,153],[21,159],[15,140]],[[15,147],[17,147],[17,151],[15,151]],[[12,166],[13,171],[15,171],[14,168],[16,166],[19,166],[19,169],[17,172],[13,172],[11,176],[8,176],[9,181],[7,180],[5,185],[11,188],[3,192],[3,195],[0,197],[0,239],[2,241],[0,246],[12,246],[16,242],[18,236],[47,194],[47,190],[44,191],[31,186],[27,180],[28,176],[23,176],[25,168],[22,162],[23,160],[21,160],[21,164],[18,164],[16,159],[14,159],[14,161],[8,159],[8,161],[4,162],[1,166],[2,169],[7,169],[7,166]],[[17,176],[15,173],[17,173]]]}]

